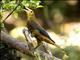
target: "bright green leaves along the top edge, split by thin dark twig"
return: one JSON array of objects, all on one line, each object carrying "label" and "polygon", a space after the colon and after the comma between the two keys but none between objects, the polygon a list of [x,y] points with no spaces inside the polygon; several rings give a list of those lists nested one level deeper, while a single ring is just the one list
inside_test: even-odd
[{"label": "bright green leaves along the top edge, split by thin dark twig", "polygon": [[[12,0],[12,1],[10,1],[10,0],[2,0],[2,8],[3,8],[3,10],[13,10],[18,3],[19,2],[16,1],[16,0]],[[23,5],[25,7],[29,7],[29,8],[32,8],[32,9],[42,7],[41,5],[39,5],[39,3],[40,3],[39,0],[33,0],[33,1],[23,0],[21,2],[20,7],[18,7],[17,10],[23,9]]]}]

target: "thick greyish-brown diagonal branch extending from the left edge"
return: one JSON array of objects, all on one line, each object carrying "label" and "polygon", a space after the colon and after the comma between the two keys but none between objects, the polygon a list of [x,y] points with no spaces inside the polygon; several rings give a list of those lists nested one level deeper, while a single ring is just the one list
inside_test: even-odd
[{"label": "thick greyish-brown diagonal branch extending from the left edge", "polygon": [[32,51],[29,50],[29,47],[27,44],[24,44],[24,43],[20,42],[19,40],[16,40],[15,38],[11,37],[7,33],[1,31],[0,38],[1,38],[0,40],[5,42],[7,45],[13,47],[14,49],[16,49],[24,54],[34,56]]}]

